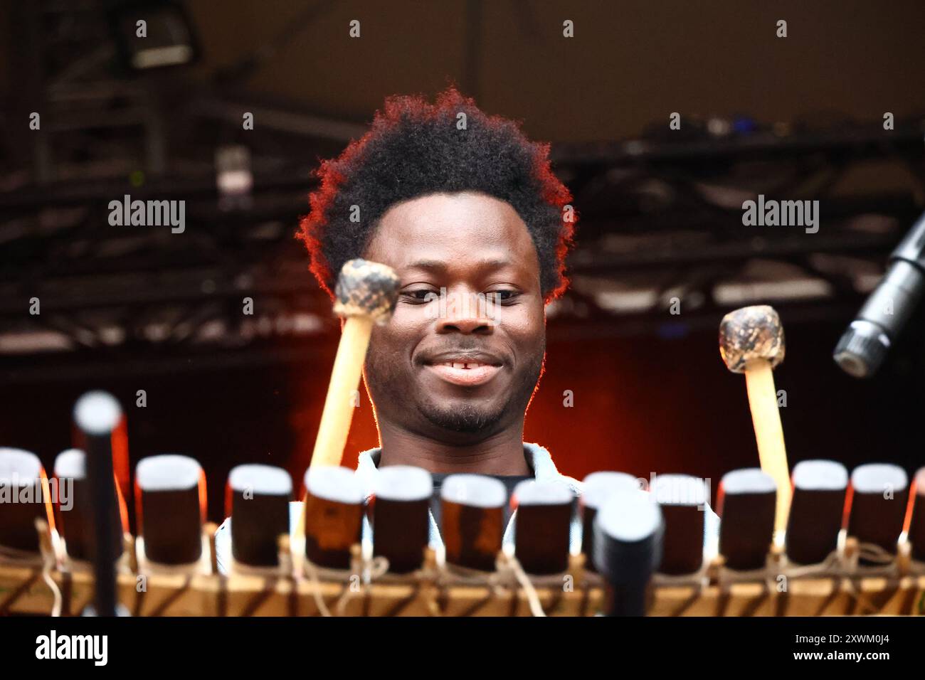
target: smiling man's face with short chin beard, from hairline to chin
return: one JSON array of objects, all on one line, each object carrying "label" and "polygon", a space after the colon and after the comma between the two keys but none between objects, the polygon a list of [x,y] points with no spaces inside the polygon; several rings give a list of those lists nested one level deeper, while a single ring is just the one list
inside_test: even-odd
[{"label": "smiling man's face with short chin beard, from hairline to chin", "polygon": [[536,247],[512,206],[474,192],[395,204],[364,257],[401,278],[364,365],[379,427],[445,443],[519,427],[542,371],[546,318]]}]

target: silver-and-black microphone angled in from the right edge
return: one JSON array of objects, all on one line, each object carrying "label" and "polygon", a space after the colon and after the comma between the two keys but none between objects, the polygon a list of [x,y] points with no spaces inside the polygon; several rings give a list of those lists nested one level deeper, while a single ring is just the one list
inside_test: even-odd
[{"label": "silver-and-black microphone angled in from the right edge", "polygon": [[833,359],[849,376],[870,377],[909,320],[925,289],[925,215],[909,229],[890,255],[890,265],[857,313]]}]

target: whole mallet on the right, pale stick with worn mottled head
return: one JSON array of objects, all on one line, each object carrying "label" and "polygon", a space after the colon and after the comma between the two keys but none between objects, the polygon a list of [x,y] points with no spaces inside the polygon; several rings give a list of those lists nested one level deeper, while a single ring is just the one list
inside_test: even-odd
[{"label": "whole mallet on the right, pale stick with worn mottled head", "polygon": [[775,541],[783,540],[790,512],[790,472],[783,446],[781,414],[771,370],[783,361],[781,318],[773,307],[760,304],[742,307],[722,317],[720,354],[733,373],[746,374],[748,406],[751,409],[761,469],[777,485],[774,513]]}]

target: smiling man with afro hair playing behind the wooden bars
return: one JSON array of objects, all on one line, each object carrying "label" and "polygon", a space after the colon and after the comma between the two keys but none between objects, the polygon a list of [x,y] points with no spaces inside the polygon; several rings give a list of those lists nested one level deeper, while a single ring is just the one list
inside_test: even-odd
[{"label": "smiling man with afro hair playing behind the wooden bars", "polygon": [[[300,237],[325,291],[356,257],[401,278],[364,365],[379,432],[359,458],[367,485],[379,468],[409,464],[433,474],[435,496],[454,473],[498,477],[509,493],[531,478],[580,493],[549,451],[524,442],[545,309],[568,284],[573,242],[572,196],[549,168],[549,145],[451,87],[434,105],[388,98],[371,130],[317,174]],[[431,543],[441,543],[439,503]]]}]

